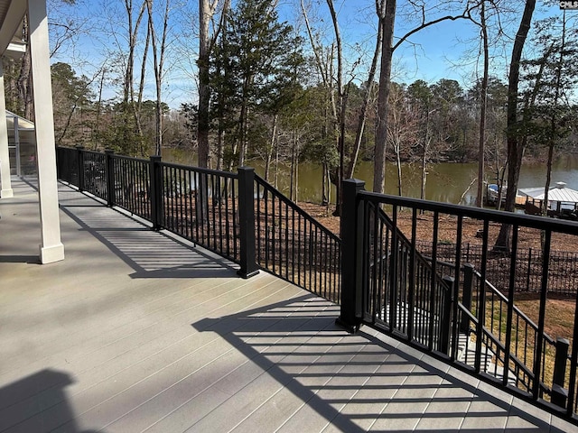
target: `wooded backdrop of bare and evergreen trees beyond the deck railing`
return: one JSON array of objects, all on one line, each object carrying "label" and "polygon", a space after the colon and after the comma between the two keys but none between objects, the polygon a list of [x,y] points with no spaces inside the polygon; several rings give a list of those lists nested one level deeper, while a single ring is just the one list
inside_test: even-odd
[{"label": "wooded backdrop of bare and evergreen trees beyond the deck railing", "polygon": [[[53,59],[74,58],[81,37],[98,32],[98,21],[73,13],[81,3],[49,2]],[[343,36],[335,0],[111,0],[116,23],[104,32],[116,42],[94,74],[77,73],[80,60],[52,64],[56,142],[137,156],[182,147],[224,170],[260,159],[266,177],[283,161],[295,183],[298,163],[315,161],[324,202],[359,159],[374,161],[374,190],[395,182],[402,195],[404,161],[420,164],[424,185],[434,161],[480,161],[479,182],[509,173],[515,185],[522,155],[551,164],[575,151],[578,14],[545,17],[532,0],[362,3],[376,29],[364,47]],[[395,32],[400,19],[405,34]],[[469,84],[392,78],[403,67],[396,50],[443,22],[477,29],[459,41],[470,52],[461,67],[472,70]],[[197,91],[170,108],[163,88],[175,52],[191,59]],[[29,56],[3,61],[7,108],[32,118]],[[396,161],[397,179],[384,179],[386,160]]]}]

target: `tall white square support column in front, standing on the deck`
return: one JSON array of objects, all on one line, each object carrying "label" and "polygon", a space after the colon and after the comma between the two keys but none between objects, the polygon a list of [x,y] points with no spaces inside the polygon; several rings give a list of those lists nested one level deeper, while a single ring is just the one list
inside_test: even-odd
[{"label": "tall white square support column in front, standing on the deck", "polygon": [[46,0],[28,0],[30,53],[32,60],[34,124],[38,162],[38,192],[42,244],[41,263],[64,259],[56,180],[56,148],[52,116],[51,67],[48,46]]}]

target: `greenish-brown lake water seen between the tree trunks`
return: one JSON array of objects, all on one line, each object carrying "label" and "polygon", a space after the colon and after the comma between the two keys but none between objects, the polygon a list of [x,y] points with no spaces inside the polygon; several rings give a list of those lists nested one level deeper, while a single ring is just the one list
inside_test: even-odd
[{"label": "greenish-brown lake water seen between the tree trunks", "polygon": [[[177,162],[186,165],[195,165],[196,154],[182,150],[163,150],[163,161]],[[263,175],[264,163],[260,160],[247,161],[247,165],[255,167],[259,175]],[[277,174],[277,186],[289,195],[290,170],[286,165],[280,165]],[[545,185],[545,162],[525,163],[522,167],[519,188],[542,187]],[[419,198],[421,189],[421,166],[419,163],[403,164],[402,192],[406,197]],[[458,203],[461,195],[478,175],[477,162],[450,163],[441,162],[432,164],[428,169],[425,198],[445,203]],[[495,174],[486,173],[490,183],[495,183]],[[373,185],[373,162],[359,161],[355,178],[366,182],[366,189]],[[275,171],[272,171],[269,181],[275,182]],[[565,156],[554,163],[552,183],[563,181],[568,188],[578,189],[578,155]],[[335,187],[331,187],[333,193]],[[387,164],[386,192],[397,194],[396,165]],[[472,185],[464,196],[463,204],[473,205],[476,198],[476,185]],[[322,200],[322,168],[311,162],[299,164],[299,200],[321,202]]]}]

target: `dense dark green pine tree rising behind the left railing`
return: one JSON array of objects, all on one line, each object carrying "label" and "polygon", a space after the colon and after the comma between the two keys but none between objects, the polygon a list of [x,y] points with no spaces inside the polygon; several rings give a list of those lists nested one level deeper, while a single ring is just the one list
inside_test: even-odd
[{"label": "dense dark green pine tree rising behind the left railing", "polygon": [[293,28],[280,23],[272,0],[240,0],[228,15],[211,62],[213,109],[238,164],[247,155],[255,115],[274,114],[291,101],[303,62]]}]

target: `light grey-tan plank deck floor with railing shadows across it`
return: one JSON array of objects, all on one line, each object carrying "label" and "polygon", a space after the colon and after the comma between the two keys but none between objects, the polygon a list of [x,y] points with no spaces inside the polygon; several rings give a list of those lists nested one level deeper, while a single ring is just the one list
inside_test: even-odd
[{"label": "light grey-tan plank deck floor with railing shadows across it", "polygon": [[578,431],[60,189],[60,263],[37,264],[33,189],[0,200],[0,432]]}]

